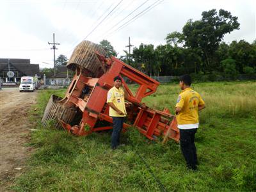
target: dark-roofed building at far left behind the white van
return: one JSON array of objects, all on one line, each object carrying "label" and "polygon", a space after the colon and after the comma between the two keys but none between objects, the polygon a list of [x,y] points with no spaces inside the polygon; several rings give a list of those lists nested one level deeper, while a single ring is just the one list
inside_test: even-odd
[{"label": "dark-roofed building at far left behind the white van", "polygon": [[[13,77],[8,77],[8,72],[14,74]],[[39,64],[31,64],[29,59],[5,59],[0,58],[0,77],[3,83],[20,82],[22,76],[40,77]]]}]

